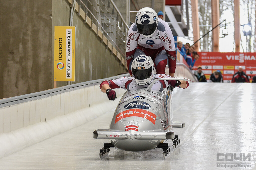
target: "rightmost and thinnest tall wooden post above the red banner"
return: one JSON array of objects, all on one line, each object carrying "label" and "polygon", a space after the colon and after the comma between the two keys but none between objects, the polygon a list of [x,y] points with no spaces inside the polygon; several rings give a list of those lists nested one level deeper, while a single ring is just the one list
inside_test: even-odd
[{"label": "rightmost and thinnest tall wooden post above the red banner", "polygon": [[240,52],[240,0],[234,0],[234,38],[236,44],[236,52]]}]

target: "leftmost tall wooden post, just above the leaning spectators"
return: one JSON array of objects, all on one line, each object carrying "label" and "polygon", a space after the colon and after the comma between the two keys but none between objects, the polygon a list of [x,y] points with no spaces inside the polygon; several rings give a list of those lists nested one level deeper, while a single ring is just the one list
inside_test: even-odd
[{"label": "leftmost tall wooden post, just above the leaning spectators", "polygon": [[[199,18],[198,18],[198,0],[191,0],[191,8],[192,8],[192,21],[193,21],[193,35],[194,35],[194,42],[199,40]],[[195,50],[199,51],[200,48],[200,41],[194,44]]]}]

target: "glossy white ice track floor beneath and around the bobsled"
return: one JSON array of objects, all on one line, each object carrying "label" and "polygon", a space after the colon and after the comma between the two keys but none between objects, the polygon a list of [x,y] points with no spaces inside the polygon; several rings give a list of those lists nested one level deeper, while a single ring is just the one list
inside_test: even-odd
[{"label": "glossy white ice track floor beneath and around the bobsled", "polygon": [[217,153],[251,153],[251,167],[232,169],[256,168],[256,83],[190,83],[172,98],[173,120],[186,127],[174,129],[181,145],[166,160],[160,148],[111,148],[100,159],[109,140],[93,139],[92,132],[108,128],[112,111],[0,159],[0,169],[230,169],[217,167]]}]

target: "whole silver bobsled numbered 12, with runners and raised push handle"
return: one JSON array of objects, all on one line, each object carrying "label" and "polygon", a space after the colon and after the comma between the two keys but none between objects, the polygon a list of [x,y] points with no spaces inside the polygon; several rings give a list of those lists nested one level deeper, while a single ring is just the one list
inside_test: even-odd
[{"label": "whole silver bobsled numbered 12, with runners and raised push handle", "polygon": [[[193,82],[184,78],[161,80]],[[115,109],[109,129],[94,130],[93,138],[110,140],[100,149],[100,158],[108,155],[110,148],[115,147],[125,151],[162,148],[166,159],[179,147],[180,138],[173,128],[183,128],[185,123],[173,122],[171,90],[173,88],[165,88],[163,91],[151,90],[156,81],[159,79],[153,80],[147,88],[126,91]],[[168,142],[173,145],[169,146]]]}]

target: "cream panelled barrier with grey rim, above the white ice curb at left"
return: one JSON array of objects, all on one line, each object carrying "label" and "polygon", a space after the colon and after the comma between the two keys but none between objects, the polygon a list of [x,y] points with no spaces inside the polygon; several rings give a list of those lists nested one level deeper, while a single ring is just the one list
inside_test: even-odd
[{"label": "cream panelled barrier with grey rim, above the white ice curb at left", "polygon": [[[36,93],[0,100],[0,134],[46,122],[108,99],[99,85],[103,80],[116,79],[129,74],[58,87]],[[122,93],[121,93],[122,91]],[[117,89],[122,95],[123,89]],[[119,93],[120,92],[120,93]]]}]

